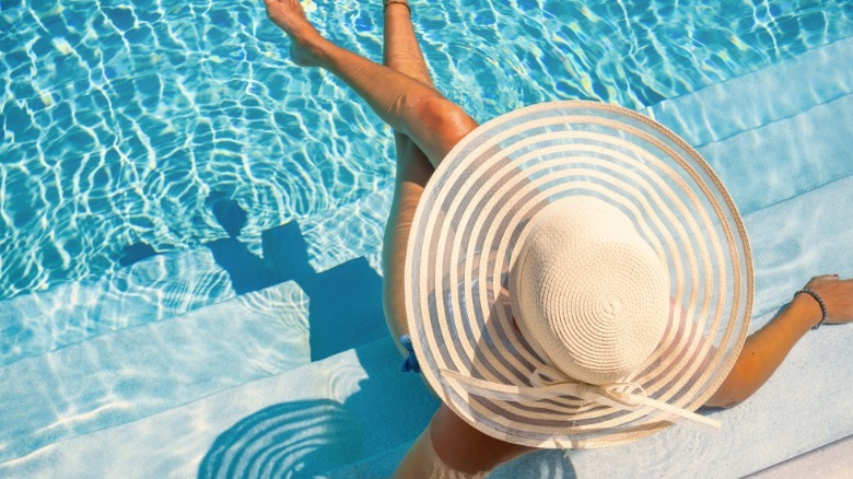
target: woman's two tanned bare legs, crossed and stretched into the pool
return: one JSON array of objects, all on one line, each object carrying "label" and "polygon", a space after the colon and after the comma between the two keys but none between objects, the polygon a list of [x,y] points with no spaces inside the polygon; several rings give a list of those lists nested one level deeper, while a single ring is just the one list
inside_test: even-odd
[{"label": "woman's two tanned bare legs, crossed and stretched into the pool", "polygon": [[397,177],[383,244],[383,303],[388,329],[399,338],[408,331],[402,284],[414,210],[433,165],[477,124],[432,86],[406,5],[385,9],[383,67],[323,38],[296,0],[266,4],[269,17],[293,40],[291,57],[296,63],[318,66],[341,78],[395,130]]}]

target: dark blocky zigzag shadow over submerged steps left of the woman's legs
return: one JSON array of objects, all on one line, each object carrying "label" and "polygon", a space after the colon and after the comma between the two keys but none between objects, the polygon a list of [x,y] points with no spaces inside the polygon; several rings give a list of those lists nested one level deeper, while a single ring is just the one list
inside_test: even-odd
[{"label": "dark blocky zigzag shadow over submerged steps left of the woman's legs", "polygon": [[[382,307],[382,278],[363,257],[324,272],[308,264],[307,244],[296,222],[261,234],[262,256],[249,252],[238,236],[248,214],[236,200],[214,191],[206,199],[227,237],[205,244],[231,279],[237,294],[295,281],[308,296],[311,359],[379,339],[388,334]],[[120,262],[129,266],[156,252],[144,243],[128,246]]]}]

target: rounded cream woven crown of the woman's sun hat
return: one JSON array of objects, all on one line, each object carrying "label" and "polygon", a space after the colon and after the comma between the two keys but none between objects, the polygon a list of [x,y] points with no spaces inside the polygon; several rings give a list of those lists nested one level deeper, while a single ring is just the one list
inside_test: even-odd
[{"label": "rounded cream woven crown of the woman's sun hat", "polygon": [[577,381],[639,372],[669,320],[662,260],[624,213],[598,199],[559,200],[531,223],[510,284],[525,338]]}]

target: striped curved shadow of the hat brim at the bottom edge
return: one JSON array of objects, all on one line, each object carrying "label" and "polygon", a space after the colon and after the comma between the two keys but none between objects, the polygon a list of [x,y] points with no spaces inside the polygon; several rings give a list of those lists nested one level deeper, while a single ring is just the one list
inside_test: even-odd
[{"label": "striped curved shadow of the hat brim at the bottom edge", "polygon": [[293,401],[255,412],[220,434],[199,478],[314,477],[355,460],[350,414],[328,399]]}]

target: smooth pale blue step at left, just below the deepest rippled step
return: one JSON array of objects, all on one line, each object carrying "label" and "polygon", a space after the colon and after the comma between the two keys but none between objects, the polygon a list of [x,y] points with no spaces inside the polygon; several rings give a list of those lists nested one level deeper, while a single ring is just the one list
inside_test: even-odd
[{"label": "smooth pale blue step at left, just below the deepest rippled step", "polygon": [[287,282],[8,364],[0,462],[306,364],[307,309]]}]

